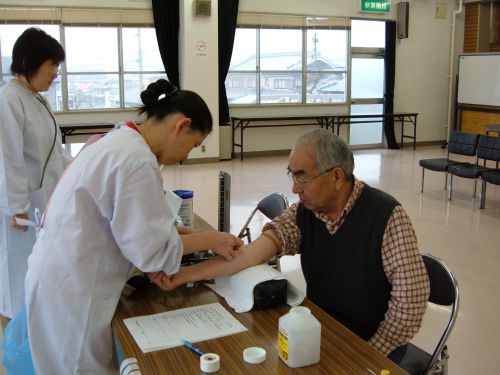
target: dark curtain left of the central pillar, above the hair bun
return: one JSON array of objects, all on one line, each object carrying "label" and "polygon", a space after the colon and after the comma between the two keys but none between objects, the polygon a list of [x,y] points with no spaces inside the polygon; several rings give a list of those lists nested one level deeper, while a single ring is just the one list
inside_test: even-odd
[{"label": "dark curtain left of the central pillar, above the hair bun", "polygon": [[179,0],[153,0],[156,39],[168,80],[180,88]]}]

